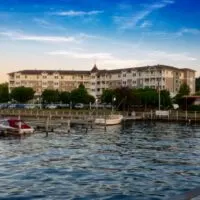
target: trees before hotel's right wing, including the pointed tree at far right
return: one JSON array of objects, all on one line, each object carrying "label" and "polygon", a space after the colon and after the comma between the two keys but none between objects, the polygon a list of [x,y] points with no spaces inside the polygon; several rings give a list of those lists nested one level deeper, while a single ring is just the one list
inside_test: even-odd
[{"label": "trees before hotel's right wing, including the pointed tree at far right", "polygon": [[172,107],[172,104],[178,104],[181,108],[185,108],[191,105],[193,102],[186,99],[184,96],[190,94],[190,88],[186,83],[180,86],[178,94],[174,97],[170,97],[170,93],[167,90],[158,91],[152,88],[139,88],[131,89],[128,87],[116,88],[114,90],[107,89],[101,96],[101,102],[112,103],[119,107],[119,109],[154,109],[160,107],[161,109],[168,109]]}]

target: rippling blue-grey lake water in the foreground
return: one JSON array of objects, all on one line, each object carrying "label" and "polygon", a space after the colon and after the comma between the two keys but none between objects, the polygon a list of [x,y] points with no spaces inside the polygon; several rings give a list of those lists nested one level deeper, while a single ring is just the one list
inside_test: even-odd
[{"label": "rippling blue-grey lake water in the foreground", "polygon": [[173,199],[200,186],[200,126],[129,123],[0,139],[0,199]]}]

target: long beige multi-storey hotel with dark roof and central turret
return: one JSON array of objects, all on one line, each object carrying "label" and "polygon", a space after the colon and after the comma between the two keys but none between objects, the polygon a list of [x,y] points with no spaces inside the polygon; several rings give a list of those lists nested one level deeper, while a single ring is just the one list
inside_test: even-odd
[{"label": "long beige multi-storey hotel with dark roof and central turret", "polygon": [[98,98],[103,90],[117,87],[166,89],[176,95],[180,85],[187,83],[191,94],[195,93],[195,71],[154,65],[114,70],[22,70],[9,73],[9,91],[15,87],[32,87],[39,96],[45,89],[71,91],[84,84],[88,92]]}]

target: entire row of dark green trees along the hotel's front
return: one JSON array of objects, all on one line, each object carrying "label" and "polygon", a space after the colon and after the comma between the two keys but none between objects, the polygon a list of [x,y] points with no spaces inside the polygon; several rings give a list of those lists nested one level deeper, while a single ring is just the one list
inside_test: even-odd
[{"label": "entire row of dark green trees along the hotel's front", "polygon": [[[8,84],[0,84],[0,102],[8,102],[15,100],[20,103],[26,103],[34,98],[35,91],[32,88],[17,87],[11,93],[8,92]],[[101,103],[115,105],[118,109],[131,110],[133,108],[152,109],[160,108],[167,109],[173,103],[184,107],[184,96],[190,94],[190,88],[187,84],[182,84],[175,98],[170,97],[167,90],[158,91],[151,88],[133,89],[121,87],[116,89],[106,89],[101,96]],[[59,92],[58,90],[44,90],[41,95],[41,102],[50,103],[84,103],[89,104],[95,102],[95,98],[88,94],[84,85],[80,85],[77,89],[71,92]],[[191,102],[187,102],[189,105]]]}]

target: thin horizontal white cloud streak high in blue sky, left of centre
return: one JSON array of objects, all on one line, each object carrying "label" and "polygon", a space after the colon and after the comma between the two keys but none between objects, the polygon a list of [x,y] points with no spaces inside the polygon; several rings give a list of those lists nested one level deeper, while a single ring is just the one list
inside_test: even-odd
[{"label": "thin horizontal white cloud streak high in blue sky, left of centre", "polygon": [[88,12],[69,10],[69,11],[55,12],[53,14],[58,15],[58,16],[81,17],[81,16],[98,15],[98,14],[102,14],[103,12],[104,11],[102,11],[102,10],[92,10],[92,11],[88,11]]}]

